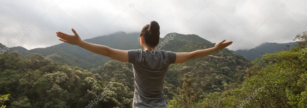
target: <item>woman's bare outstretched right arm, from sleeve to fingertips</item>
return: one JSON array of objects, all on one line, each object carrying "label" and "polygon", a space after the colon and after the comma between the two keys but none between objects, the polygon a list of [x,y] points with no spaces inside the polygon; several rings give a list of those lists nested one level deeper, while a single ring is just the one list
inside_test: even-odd
[{"label": "woman's bare outstretched right arm, from sleeve to fingertips", "polygon": [[223,41],[220,41],[219,43],[217,43],[214,47],[208,48],[208,49],[201,49],[201,50],[196,50],[193,52],[177,52],[175,64],[183,63],[191,59],[208,56],[209,54],[213,52],[226,48],[232,43],[232,41],[228,41],[228,42],[225,42],[225,41],[226,40],[224,39]]}]

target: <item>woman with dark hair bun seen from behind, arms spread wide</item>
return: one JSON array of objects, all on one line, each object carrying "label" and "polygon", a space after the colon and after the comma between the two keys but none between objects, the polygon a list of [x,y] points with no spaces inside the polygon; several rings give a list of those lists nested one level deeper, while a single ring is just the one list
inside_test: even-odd
[{"label": "woman with dark hair bun seen from behind, arms spread wide", "polygon": [[88,51],[108,56],[122,62],[132,63],[134,71],[134,108],[166,108],[163,92],[165,73],[170,64],[186,62],[207,56],[213,52],[226,48],[232,41],[217,43],[213,48],[193,52],[154,51],[160,39],[160,26],[156,21],[145,25],[140,33],[139,40],[144,50],[119,50],[104,45],[91,44],[82,41],[74,29],[74,35],[56,32],[60,41],[78,45]]}]

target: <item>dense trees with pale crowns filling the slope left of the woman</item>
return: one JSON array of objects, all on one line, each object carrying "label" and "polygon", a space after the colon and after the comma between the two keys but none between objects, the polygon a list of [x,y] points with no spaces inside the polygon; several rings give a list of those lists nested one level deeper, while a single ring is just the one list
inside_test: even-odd
[{"label": "dense trees with pale crowns filling the slope left of the woman", "polygon": [[10,52],[0,55],[0,59],[0,76],[4,76],[0,79],[0,92],[13,94],[7,102],[12,108],[81,108],[109,86],[113,88],[101,95],[93,108],[131,107],[130,88],[103,80],[98,74],[103,71],[93,74],[79,67],[52,63],[40,54],[21,59],[17,52]]}]

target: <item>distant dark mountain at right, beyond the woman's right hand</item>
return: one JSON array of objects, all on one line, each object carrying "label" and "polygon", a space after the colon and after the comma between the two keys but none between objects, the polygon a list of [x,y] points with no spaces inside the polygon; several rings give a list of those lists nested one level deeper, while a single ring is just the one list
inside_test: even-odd
[{"label": "distant dark mountain at right, beyond the woman's right hand", "polygon": [[[237,50],[235,53],[241,54],[247,58],[247,60],[255,60],[256,58],[262,58],[262,55],[266,53],[274,53],[278,51],[283,51],[283,50],[289,50],[290,48],[294,47],[294,44],[296,42],[290,42],[290,43],[269,43],[265,42],[257,46],[256,48],[252,48],[250,50]],[[289,45],[289,47],[287,47]]]}]

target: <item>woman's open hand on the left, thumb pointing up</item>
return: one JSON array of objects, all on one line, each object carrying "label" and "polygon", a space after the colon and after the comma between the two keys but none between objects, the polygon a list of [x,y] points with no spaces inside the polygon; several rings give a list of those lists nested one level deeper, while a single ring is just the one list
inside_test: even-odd
[{"label": "woman's open hand on the left, thumb pointing up", "polygon": [[82,42],[80,36],[77,32],[72,28],[72,32],[74,35],[69,35],[63,32],[56,32],[56,36],[60,37],[60,41],[66,42],[68,44],[78,45]]}]

